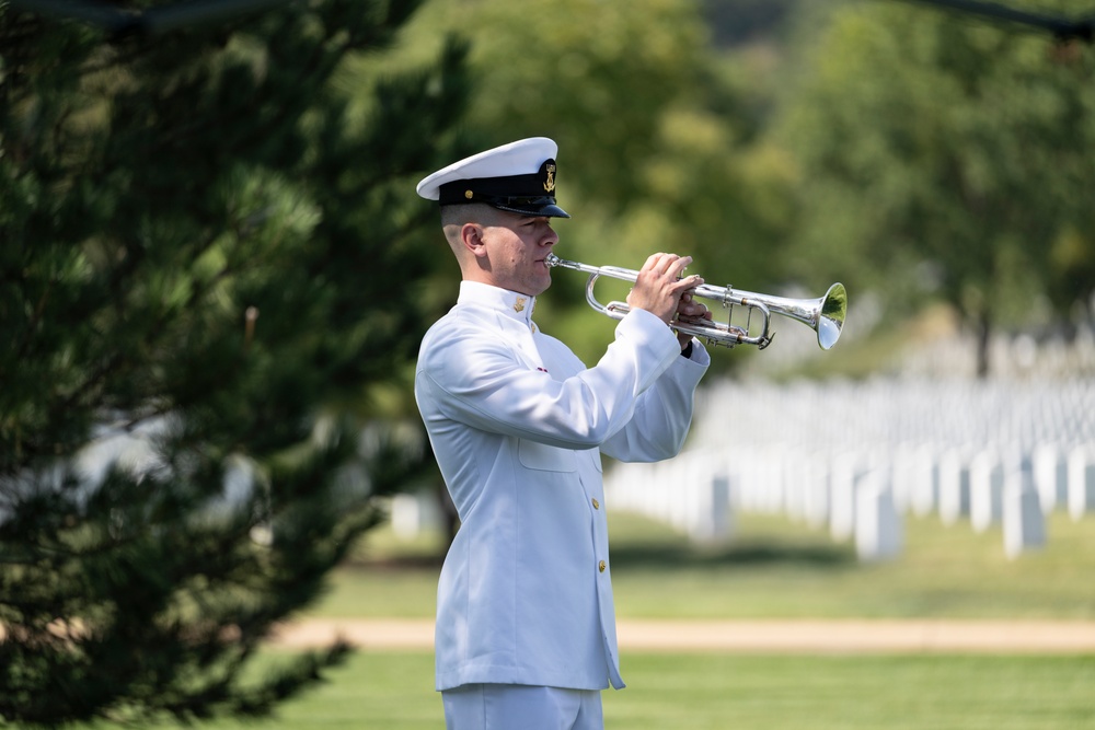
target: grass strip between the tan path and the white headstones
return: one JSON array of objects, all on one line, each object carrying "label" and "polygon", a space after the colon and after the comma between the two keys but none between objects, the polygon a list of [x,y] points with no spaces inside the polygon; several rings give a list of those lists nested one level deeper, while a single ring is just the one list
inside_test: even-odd
[{"label": "grass strip between the tan path and the white headstones", "polygon": [[[779,518],[739,518],[702,547],[626,513],[610,515],[616,613],[630,618],[1095,619],[1095,515],[1049,520],[1045,548],[1010,560],[1000,529],[907,519],[904,551],[862,564],[846,543]],[[318,616],[434,614],[440,546],[370,534],[337,570]]]}]

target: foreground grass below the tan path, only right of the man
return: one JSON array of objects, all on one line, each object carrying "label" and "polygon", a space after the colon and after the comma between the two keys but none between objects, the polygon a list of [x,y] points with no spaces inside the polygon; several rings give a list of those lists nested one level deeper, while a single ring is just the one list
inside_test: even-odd
[{"label": "foreground grass below the tan path, only right of the man", "polygon": [[1095,728],[1095,657],[625,657],[608,728]]}]

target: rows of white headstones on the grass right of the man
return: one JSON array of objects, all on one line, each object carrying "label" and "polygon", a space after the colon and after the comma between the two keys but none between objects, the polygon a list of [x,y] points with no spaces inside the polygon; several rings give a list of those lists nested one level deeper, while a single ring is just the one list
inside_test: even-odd
[{"label": "rows of white headstones on the grass right of the man", "polygon": [[861,558],[900,554],[902,519],[999,528],[1010,557],[1046,515],[1095,511],[1095,384],[869,381],[723,383],[693,438],[660,464],[606,474],[615,508],[725,540],[734,512],[783,513]]}]

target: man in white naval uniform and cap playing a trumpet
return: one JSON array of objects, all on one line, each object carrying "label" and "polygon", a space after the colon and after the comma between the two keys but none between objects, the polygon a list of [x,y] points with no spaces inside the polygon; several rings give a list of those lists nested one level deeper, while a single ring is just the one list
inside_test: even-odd
[{"label": "man in white naval uniform and cap playing a trumpet", "polygon": [[668,326],[708,316],[650,256],[631,312],[592,368],[532,321],[558,242],[555,142],[532,138],[418,184],[438,200],[460,264],[456,306],[423,339],[415,398],[460,529],[437,598],[437,690],[450,730],[603,728],[600,691],[623,687],[601,453],[676,455],[710,362]]}]

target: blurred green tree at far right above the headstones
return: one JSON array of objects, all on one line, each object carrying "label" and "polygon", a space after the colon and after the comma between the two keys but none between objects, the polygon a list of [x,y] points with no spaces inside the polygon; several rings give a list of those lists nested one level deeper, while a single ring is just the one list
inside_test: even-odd
[{"label": "blurred green tree at far right above the headstones", "polygon": [[781,123],[799,162],[796,258],[839,262],[862,288],[883,276],[891,301],[938,292],[973,326],[984,375],[994,327],[1095,286],[1095,56],[889,3],[811,21],[823,31]]}]

